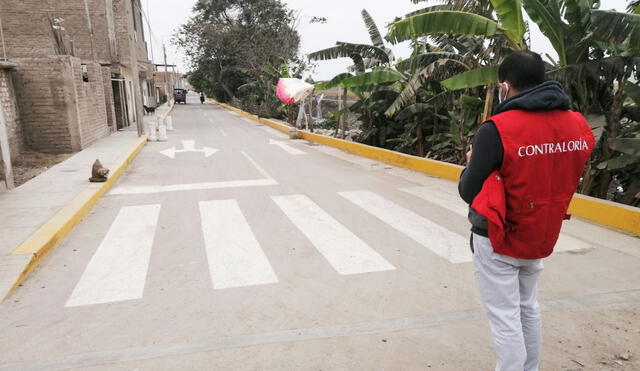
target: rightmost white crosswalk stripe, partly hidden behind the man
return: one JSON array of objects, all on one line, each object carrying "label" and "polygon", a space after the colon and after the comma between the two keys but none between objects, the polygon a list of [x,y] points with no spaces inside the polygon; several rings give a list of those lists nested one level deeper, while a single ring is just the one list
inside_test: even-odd
[{"label": "rightmost white crosswalk stripe, partly hidden behind the man", "polygon": [[[457,194],[451,194],[435,187],[408,187],[402,188],[401,191],[467,217],[468,206]],[[577,251],[591,248],[593,246],[588,242],[560,233],[554,251]]]}]

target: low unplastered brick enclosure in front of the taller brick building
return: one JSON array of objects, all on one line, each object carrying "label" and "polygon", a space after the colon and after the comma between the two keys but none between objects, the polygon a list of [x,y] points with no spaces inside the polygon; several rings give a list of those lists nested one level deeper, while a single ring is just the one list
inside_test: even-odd
[{"label": "low unplastered brick enclosure in front of the taller brick building", "polygon": [[109,134],[100,65],[69,56],[13,59],[24,143],[45,153],[77,152]]}]

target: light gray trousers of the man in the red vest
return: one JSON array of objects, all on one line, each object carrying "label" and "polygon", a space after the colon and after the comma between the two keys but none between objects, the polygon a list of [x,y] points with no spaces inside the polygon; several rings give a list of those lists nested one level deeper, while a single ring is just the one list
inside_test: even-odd
[{"label": "light gray trousers of the man in the red vest", "polygon": [[542,259],[496,254],[488,238],[473,234],[473,264],[496,350],[496,371],[538,371],[542,320],[538,276]]}]

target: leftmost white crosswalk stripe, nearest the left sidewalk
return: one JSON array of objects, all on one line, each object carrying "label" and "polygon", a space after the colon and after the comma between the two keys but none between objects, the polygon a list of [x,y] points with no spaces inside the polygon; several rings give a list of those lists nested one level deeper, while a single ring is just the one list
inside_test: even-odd
[{"label": "leftmost white crosswalk stripe, nearest the left sidewalk", "polygon": [[67,307],[142,297],[160,205],[123,207],[89,261]]}]

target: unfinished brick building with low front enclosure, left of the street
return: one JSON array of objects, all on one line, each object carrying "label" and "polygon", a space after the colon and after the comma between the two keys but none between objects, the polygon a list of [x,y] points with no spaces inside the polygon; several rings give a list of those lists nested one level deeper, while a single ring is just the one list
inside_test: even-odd
[{"label": "unfinished brick building with low front enclosure, left of the street", "polygon": [[27,148],[79,151],[156,102],[140,0],[0,0],[0,18]]}]

